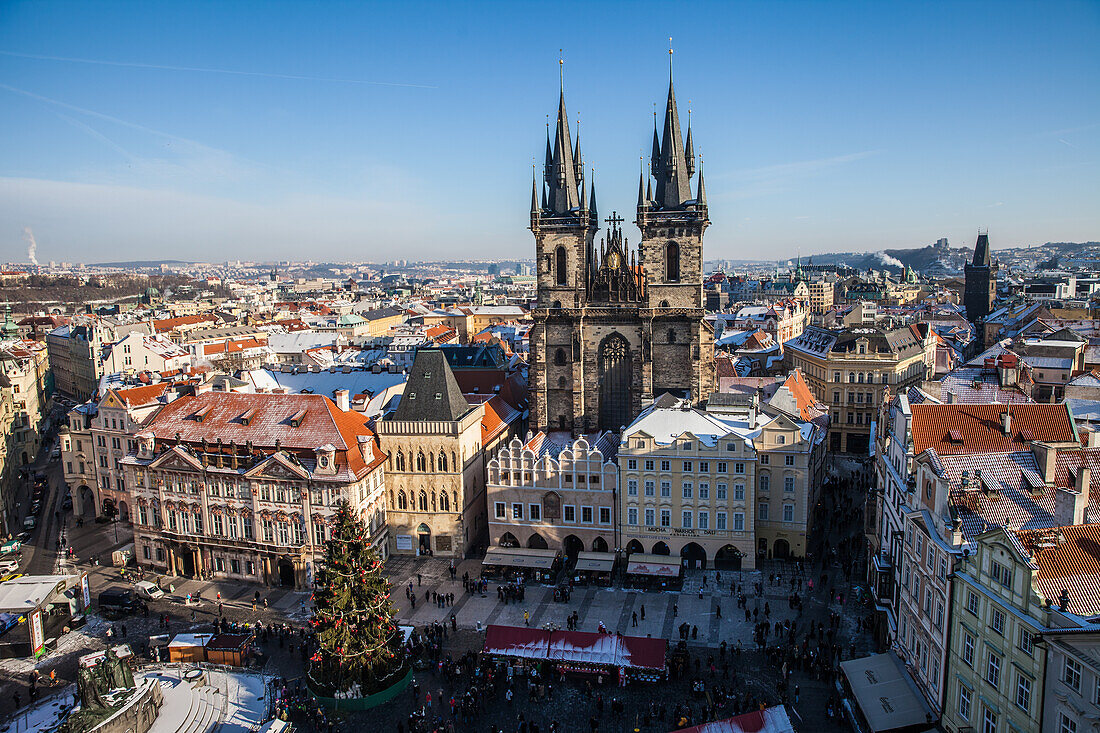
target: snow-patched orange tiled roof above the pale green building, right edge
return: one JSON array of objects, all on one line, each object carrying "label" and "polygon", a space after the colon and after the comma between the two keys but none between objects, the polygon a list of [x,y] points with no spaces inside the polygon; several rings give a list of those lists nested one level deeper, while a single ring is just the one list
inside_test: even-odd
[{"label": "snow-patched orange tiled roof above the pale green building, right edge", "polygon": [[1020,544],[1032,553],[1038,566],[1035,582],[1055,606],[1062,591],[1069,594],[1070,613],[1082,616],[1100,614],[1100,524],[1078,524],[1059,527],[1064,541],[1053,547],[1040,547],[1044,539],[1055,537],[1049,530],[1020,532]]}]

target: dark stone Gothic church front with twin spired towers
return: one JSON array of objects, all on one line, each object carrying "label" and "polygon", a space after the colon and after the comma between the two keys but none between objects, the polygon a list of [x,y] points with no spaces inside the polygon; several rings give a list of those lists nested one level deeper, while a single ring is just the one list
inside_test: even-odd
[{"label": "dark stone Gothic church front with twin spired towers", "polygon": [[691,128],[681,135],[669,79],[663,131],[653,125],[649,175],[638,180],[631,249],[612,215],[601,229],[581,143],[562,90],[541,184],[532,182],[538,299],[530,333],[532,430],[620,431],[669,392],[697,404],[714,390],[714,332],[704,322],[706,188]]}]

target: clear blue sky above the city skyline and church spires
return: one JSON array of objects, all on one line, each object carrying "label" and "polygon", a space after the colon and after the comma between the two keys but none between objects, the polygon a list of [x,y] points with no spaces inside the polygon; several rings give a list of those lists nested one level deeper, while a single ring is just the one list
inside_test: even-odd
[{"label": "clear blue sky above the city skyline and church spires", "polygon": [[1097,2],[8,1],[0,261],[529,258],[559,48],[626,214],[669,36],[707,259],[1100,239]]}]

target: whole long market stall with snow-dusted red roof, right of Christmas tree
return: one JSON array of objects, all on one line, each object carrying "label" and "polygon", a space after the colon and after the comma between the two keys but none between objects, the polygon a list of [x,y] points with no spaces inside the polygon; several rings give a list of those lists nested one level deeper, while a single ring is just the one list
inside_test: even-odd
[{"label": "whole long market stall with snow-dusted red roof, right of Christmas tree", "polygon": [[662,638],[491,625],[482,653],[519,675],[550,663],[558,672],[656,682],[666,678],[667,648]]}]

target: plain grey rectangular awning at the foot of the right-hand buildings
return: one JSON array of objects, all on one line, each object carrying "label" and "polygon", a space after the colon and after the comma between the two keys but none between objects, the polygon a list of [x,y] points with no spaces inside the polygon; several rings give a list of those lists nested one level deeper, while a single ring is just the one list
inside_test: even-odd
[{"label": "plain grey rectangular awning at the foot of the right-hand buildings", "polygon": [[867,724],[875,733],[884,731],[927,731],[935,727],[932,711],[916,685],[893,654],[840,663],[853,697]]}]

